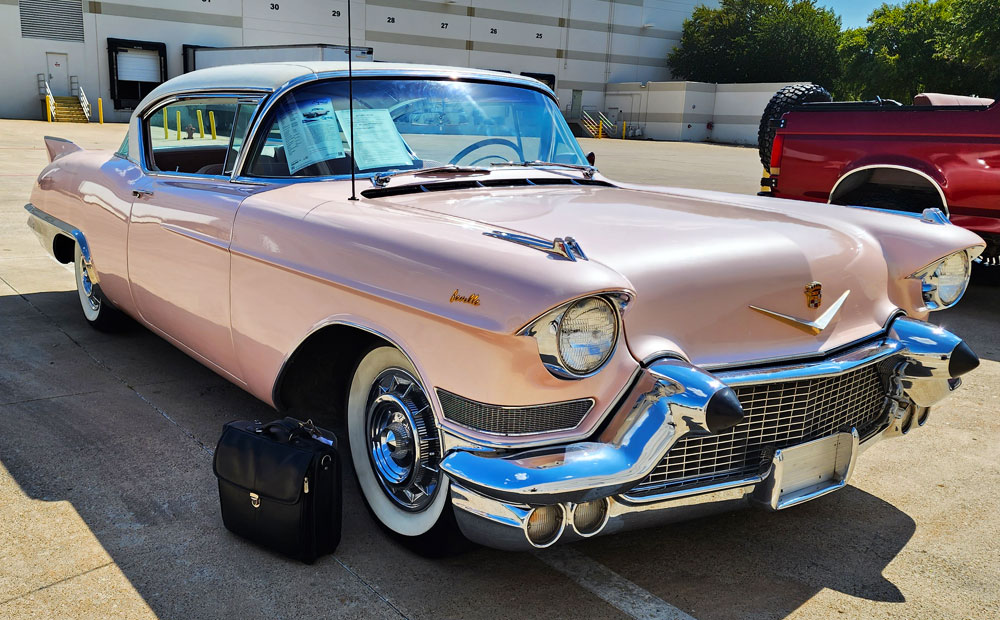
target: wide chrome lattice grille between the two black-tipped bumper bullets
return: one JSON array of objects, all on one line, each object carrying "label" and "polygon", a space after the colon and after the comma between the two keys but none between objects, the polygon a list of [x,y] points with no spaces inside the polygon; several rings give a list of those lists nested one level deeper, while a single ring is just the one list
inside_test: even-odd
[{"label": "wide chrome lattice grille between the two black-tipped bumper bullets", "polygon": [[733,388],[746,417],[735,427],[685,437],[630,496],[746,478],[770,461],[775,448],[819,439],[854,427],[862,439],[878,429],[886,409],[879,365],[835,377],[760,383]]}]

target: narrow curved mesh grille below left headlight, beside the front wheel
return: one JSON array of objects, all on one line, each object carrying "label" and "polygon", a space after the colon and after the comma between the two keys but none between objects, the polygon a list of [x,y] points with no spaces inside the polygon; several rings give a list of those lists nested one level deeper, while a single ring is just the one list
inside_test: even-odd
[{"label": "narrow curved mesh grille below left headlight, beside the front wheel", "polygon": [[576,428],[594,406],[590,398],[529,407],[501,407],[438,389],[444,417],[494,435],[528,435]]}]

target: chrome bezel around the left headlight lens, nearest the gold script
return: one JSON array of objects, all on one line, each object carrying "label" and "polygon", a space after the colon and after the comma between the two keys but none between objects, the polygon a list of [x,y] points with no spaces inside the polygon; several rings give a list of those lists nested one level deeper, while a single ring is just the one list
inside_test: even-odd
[{"label": "chrome bezel around the left headlight lens, nearest the gold script", "polygon": [[[574,371],[563,361],[563,356],[559,349],[559,328],[566,312],[577,304],[596,299],[607,304],[614,314],[614,339],[608,351],[592,370],[587,372]],[[576,299],[567,301],[549,310],[545,314],[532,320],[528,325],[518,331],[519,336],[530,336],[534,338],[538,346],[538,356],[550,374],[559,379],[585,379],[601,372],[608,362],[615,356],[618,350],[618,343],[622,337],[622,313],[631,301],[631,294],[627,292],[607,292],[584,295]]]}]

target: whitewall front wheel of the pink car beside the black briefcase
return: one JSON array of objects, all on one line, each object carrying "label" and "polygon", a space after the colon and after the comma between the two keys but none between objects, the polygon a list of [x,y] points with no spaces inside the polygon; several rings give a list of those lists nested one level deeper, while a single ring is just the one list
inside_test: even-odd
[{"label": "whitewall front wheel of the pink car beside the black briefcase", "polygon": [[448,477],[438,467],[441,446],[427,394],[399,349],[380,346],[362,357],[348,395],[347,434],[375,518],[412,549],[440,553],[455,535]]}]

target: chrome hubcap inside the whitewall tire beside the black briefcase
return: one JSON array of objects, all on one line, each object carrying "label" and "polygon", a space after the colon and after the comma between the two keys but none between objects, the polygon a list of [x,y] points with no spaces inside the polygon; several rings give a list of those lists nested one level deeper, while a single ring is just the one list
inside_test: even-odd
[{"label": "chrome hubcap inside the whitewall tire beside the black briefcase", "polygon": [[385,494],[405,510],[426,508],[441,478],[440,450],[430,404],[417,380],[399,368],[376,377],[365,427],[372,468]]}]

